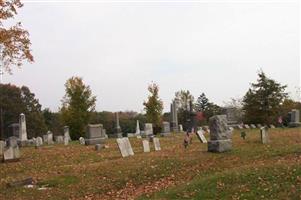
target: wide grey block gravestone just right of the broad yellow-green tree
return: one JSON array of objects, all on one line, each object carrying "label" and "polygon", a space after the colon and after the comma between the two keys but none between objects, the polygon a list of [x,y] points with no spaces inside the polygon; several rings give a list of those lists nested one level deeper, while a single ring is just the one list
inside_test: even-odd
[{"label": "wide grey block gravestone just right of the broad yellow-green tree", "polygon": [[86,145],[105,144],[106,136],[102,131],[102,124],[89,124],[87,127],[85,143]]}]

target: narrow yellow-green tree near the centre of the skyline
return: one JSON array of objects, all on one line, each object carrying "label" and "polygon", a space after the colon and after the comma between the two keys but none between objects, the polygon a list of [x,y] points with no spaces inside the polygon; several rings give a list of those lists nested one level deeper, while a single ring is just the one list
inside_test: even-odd
[{"label": "narrow yellow-green tree near the centre of the skyline", "polygon": [[151,83],[148,86],[150,95],[147,101],[144,101],[144,110],[146,111],[146,119],[154,124],[155,133],[161,127],[161,115],[163,111],[163,102],[159,98],[159,86],[156,83]]}]

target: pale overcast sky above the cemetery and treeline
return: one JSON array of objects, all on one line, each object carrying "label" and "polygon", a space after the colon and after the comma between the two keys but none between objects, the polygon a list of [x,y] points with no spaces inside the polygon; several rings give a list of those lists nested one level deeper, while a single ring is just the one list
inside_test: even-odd
[{"label": "pale overcast sky above the cemetery and treeline", "polygon": [[98,111],[142,111],[151,81],[165,111],[180,89],[223,105],[260,68],[297,98],[298,1],[23,2],[16,19],[35,62],[3,80],[28,86],[43,108],[58,109],[71,76],[90,85]]}]

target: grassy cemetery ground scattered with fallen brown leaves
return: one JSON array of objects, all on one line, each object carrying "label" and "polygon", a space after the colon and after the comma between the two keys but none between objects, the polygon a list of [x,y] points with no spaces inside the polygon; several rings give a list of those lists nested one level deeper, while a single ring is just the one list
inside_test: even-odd
[{"label": "grassy cemetery ground scattered with fallen brown leaves", "polygon": [[[233,150],[208,153],[194,135],[160,138],[161,151],[143,153],[130,138],[134,156],[122,158],[115,139],[95,151],[78,141],[21,149],[19,162],[0,163],[0,199],[301,199],[301,129],[258,129],[233,134]],[[205,134],[209,138],[209,134]],[[7,187],[32,177],[33,188]]]}]

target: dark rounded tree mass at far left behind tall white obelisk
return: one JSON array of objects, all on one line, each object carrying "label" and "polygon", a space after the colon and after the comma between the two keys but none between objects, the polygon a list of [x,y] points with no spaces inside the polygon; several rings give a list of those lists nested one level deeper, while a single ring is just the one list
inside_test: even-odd
[{"label": "dark rounded tree mass at far left behind tall white obelisk", "polygon": [[[0,90],[4,132],[8,133],[8,126],[12,123],[18,123],[20,113],[24,113],[29,138],[45,133],[46,125],[41,112],[41,104],[28,87],[19,88],[11,84],[0,84]],[[4,134],[1,137],[4,138]]]}]

